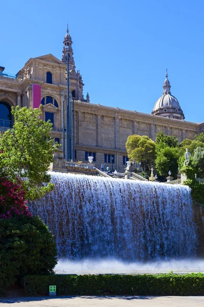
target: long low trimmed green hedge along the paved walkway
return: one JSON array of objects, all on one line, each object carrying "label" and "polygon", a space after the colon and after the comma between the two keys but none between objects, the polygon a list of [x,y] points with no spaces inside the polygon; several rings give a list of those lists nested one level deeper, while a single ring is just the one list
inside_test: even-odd
[{"label": "long low trimmed green hedge along the paved walkway", "polygon": [[204,295],[204,274],[25,276],[26,296],[48,295]]}]

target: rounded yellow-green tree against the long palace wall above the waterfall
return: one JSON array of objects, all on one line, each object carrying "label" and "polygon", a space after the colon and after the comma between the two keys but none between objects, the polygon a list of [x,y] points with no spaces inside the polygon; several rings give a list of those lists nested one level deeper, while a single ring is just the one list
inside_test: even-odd
[{"label": "rounded yellow-green tree against the long palace wall above the waterfall", "polygon": [[147,136],[129,136],[125,146],[129,159],[141,163],[143,171],[151,168],[151,165],[154,164],[155,142]]}]

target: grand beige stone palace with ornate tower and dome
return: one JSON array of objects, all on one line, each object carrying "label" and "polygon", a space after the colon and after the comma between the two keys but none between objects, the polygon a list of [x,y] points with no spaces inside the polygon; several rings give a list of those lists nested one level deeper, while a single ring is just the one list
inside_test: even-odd
[{"label": "grand beige stone palace with ornate tower and dome", "polygon": [[[33,106],[32,85],[39,84],[43,119],[53,122],[53,137],[62,144],[63,90],[66,93],[66,56],[69,54],[69,90],[74,101],[75,160],[86,163],[88,156],[92,155],[96,167],[99,168],[101,163],[106,162],[106,166],[112,168],[113,164],[113,168],[123,171],[127,161],[125,142],[128,136],[146,135],[155,140],[157,133],[162,131],[182,142],[186,138],[193,139],[203,131],[204,123],[184,120],[179,101],[171,95],[167,74],[163,95],[156,102],[151,114],[90,103],[88,93],[86,99],[83,96],[84,83],[80,71],[75,70],[68,28],[63,43],[62,60],[52,54],[30,58],[15,77],[5,74],[4,67],[0,67],[1,130],[12,126],[11,106]],[[66,171],[63,153],[61,146],[55,155],[56,171]]]}]

